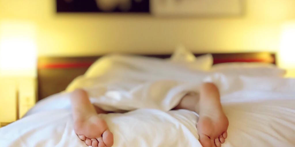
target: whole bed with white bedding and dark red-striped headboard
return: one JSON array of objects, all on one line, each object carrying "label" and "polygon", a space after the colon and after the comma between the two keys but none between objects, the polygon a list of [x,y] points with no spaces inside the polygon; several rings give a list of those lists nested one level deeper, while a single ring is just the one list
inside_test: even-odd
[{"label": "whole bed with white bedding and dark red-striped headboard", "polygon": [[[187,110],[167,110],[175,105],[177,100],[174,98],[179,92],[195,88],[204,81],[213,82],[219,87],[222,105],[230,122],[229,136],[222,146],[295,146],[295,80],[282,78],[284,71],[273,66],[276,64],[275,54],[212,54],[211,64],[214,66],[210,66],[207,71],[200,70],[204,68],[200,63],[209,59],[208,56],[204,59],[204,54],[194,54],[197,60],[191,60],[191,56],[183,59],[181,56],[172,56],[175,59],[172,62],[168,59],[171,55],[142,56],[144,57],[115,55],[98,61],[96,59],[100,56],[39,58],[39,102],[24,118],[0,129],[0,145],[86,146],[73,131],[67,91],[84,87],[95,95],[100,92],[96,88],[101,87],[97,81],[108,81],[106,79],[115,77],[123,83],[127,82],[127,87],[132,82],[136,84],[150,80],[150,83],[137,87],[132,94],[143,90],[145,93],[159,93],[157,96],[171,98],[169,102],[163,101],[162,106],[150,104],[149,108],[129,113],[101,115],[114,132],[115,147],[201,146],[195,127],[198,115]],[[116,70],[106,68],[109,63],[116,63],[112,64],[117,67]],[[125,70],[125,67],[132,69],[132,72]],[[101,71],[103,72],[97,76]],[[130,77],[136,80],[131,82]],[[177,82],[171,84],[162,79]],[[179,81],[181,84],[191,83],[179,86]],[[113,88],[112,84],[109,87]],[[157,86],[166,87],[168,92],[163,94],[165,90],[151,88]],[[122,96],[121,92],[108,93],[116,99],[107,99],[104,103],[96,101],[95,96],[91,97],[91,101],[103,105],[105,109],[113,109],[108,107],[112,104],[116,108],[124,107],[124,110],[135,110],[141,108],[141,103],[145,103],[138,99],[133,101],[132,98],[123,103],[117,101],[118,96]]]}]

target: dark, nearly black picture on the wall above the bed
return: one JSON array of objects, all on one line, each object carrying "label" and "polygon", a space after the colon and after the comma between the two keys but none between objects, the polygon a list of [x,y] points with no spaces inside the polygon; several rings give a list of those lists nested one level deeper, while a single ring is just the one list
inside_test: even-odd
[{"label": "dark, nearly black picture on the wall above the bed", "polygon": [[150,13],[150,0],[56,0],[56,11]]}]

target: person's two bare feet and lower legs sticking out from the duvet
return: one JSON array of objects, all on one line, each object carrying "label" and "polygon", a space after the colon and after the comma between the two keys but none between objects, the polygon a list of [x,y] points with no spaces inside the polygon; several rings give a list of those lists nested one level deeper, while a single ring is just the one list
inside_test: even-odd
[{"label": "person's two bare feet and lower legs sticking out from the duvet", "polygon": [[[71,105],[74,131],[78,137],[88,146],[111,147],[113,134],[106,121],[97,115],[109,112],[94,106],[88,93],[82,89],[71,93]],[[222,110],[219,90],[213,83],[203,83],[199,93],[186,94],[173,109],[187,109],[199,114],[196,127],[203,147],[220,147],[224,143],[229,123]]]}]

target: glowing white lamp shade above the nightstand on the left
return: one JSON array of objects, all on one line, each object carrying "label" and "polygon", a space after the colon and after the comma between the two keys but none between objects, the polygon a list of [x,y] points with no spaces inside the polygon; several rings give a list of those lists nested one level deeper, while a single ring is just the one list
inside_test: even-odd
[{"label": "glowing white lamp shade above the nightstand on the left", "polygon": [[36,76],[35,28],[21,22],[1,23],[0,75]]}]

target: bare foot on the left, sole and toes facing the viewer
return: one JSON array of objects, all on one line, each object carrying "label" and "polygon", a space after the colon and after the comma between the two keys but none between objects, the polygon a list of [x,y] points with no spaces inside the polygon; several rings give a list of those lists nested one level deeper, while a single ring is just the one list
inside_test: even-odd
[{"label": "bare foot on the left, sole and toes facing the viewer", "polygon": [[95,108],[89,101],[85,91],[77,89],[71,95],[74,130],[86,145],[93,147],[111,147],[114,143],[113,134],[97,113],[103,110]]}]

